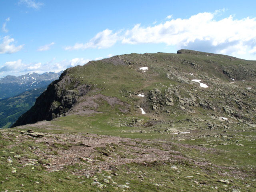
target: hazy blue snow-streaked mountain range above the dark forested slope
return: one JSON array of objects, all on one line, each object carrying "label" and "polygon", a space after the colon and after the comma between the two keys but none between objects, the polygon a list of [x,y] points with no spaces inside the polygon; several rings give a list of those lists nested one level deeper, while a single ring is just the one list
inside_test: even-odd
[{"label": "hazy blue snow-streaked mountain range above the dark forested slope", "polygon": [[17,96],[35,88],[47,87],[52,81],[59,78],[61,72],[46,72],[43,74],[28,73],[21,76],[8,75],[0,79],[0,99]]}]

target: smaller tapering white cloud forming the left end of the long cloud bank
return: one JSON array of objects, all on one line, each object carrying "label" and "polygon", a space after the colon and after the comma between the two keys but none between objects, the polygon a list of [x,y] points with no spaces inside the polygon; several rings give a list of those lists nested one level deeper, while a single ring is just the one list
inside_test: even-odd
[{"label": "smaller tapering white cloud forming the left end of the long cloud bank", "polygon": [[108,48],[113,46],[119,39],[120,32],[112,33],[112,30],[106,29],[99,32],[87,43],[76,43],[74,46],[67,46],[65,50],[84,50],[88,48]]}]

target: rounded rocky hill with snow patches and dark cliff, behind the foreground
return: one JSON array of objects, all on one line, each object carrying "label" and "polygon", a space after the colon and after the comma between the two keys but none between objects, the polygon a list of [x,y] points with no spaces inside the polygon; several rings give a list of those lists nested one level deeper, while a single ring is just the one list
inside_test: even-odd
[{"label": "rounded rocky hill with snow patches and dark cliff, behind the foreground", "polygon": [[114,106],[124,114],[162,119],[187,114],[256,120],[255,61],[192,50],[177,53],[128,54],[69,68],[13,127],[66,114],[109,113]]}]

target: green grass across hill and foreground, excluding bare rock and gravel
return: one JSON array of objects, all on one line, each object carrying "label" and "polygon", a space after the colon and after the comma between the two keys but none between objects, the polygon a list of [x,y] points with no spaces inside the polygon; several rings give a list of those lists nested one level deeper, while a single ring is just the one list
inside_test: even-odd
[{"label": "green grass across hill and foreground, excluding bare rock and gravel", "polygon": [[[217,87],[218,85],[212,84],[211,80],[205,78],[204,75],[208,77],[214,75],[221,82],[228,84],[227,87],[229,88],[231,86],[229,85],[230,78],[225,76],[222,70],[224,68],[229,70],[234,68],[234,76],[238,77],[239,74],[236,74],[238,70],[235,69],[240,66],[247,66],[255,70],[255,61],[239,60],[222,55],[207,56],[207,54],[201,53],[130,54],[122,57],[133,64],[131,66],[113,66],[111,63],[102,61],[91,62],[89,65],[70,69],[68,75],[74,80],[79,80],[80,84],[94,85],[93,91],[89,92],[88,96],[100,93],[105,96],[117,97],[130,104],[130,113],[124,114],[118,109],[120,106],[110,106],[105,102],[105,105],[97,109],[103,114],[70,115],[56,118],[47,126],[42,125],[38,128],[36,125],[28,125],[24,126],[23,129],[32,128],[34,131],[48,133],[47,137],[52,138],[55,142],[59,142],[58,134],[60,133],[75,135],[90,133],[120,136],[134,140],[142,139],[138,142],[141,146],[149,145],[151,148],[168,151],[170,160],[118,165],[116,169],[112,170],[112,173],[101,170],[98,173],[95,172],[89,179],[84,174],[78,174],[78,172],[80,170],[90,170],[88,168],[90,163],[76,163],[65,166],[59,172],[48,173],[43,164],[49,163],[50,159],[42,162],[43,156],[34,154],[33,150],[39,148],[47,151],[46,145],[41,142],[37,143],[37,138],[30,138],[29,140],[21,140],[22,147],[20,147],[19,138],[16,138],[16,136],[20,137],[19,130],[15,128],[9,132],[1,133],[0,169],[6,173],[0,176],[0,180],[4,181],[0,185],[2,189],[10,191],[16,189],[28,191],[123,191],[121,188],[116,188],[117,185],[128,182],[127,185],[130,188],[125,191],[232,191],[234,189],[254,191],[256,188],[256,134],[254,127],[237,120],[221,121],[212,119],[210,114],[213,111],[209,112],[209,110],[203,108],[194,108],[195,113],[182,112],[179,110],[178,104],[167,107],[168,110],[174,111],[176,114],[156,113],[150,109],[146,98],[138,98],[134,94],[130,96],[129,91],[136,94],[142,92],[147,94],[153,88],[158,88],[163,92],[166,86],[170,84],[179,86],[178,82],[166,78],[168,70],[177,70],[180,74],[196,74],[196,77],[204,78],[204,82],[209,87]],[[210,60],[213,62],[210,62]],[[195,62],[201,68],[190,66],[187,63],[190,61]],[[142,73],[138,70],[142,66],[148,66],[150,70]],[[191,77],[191,79],[196,77]],[[243,78],[243,74],[240,74],[240,78]],[[253,78],[247,78],[246,82],[241,80],[243,79],[236,82],[240,89],[247,91],[247,86],[255,87]],[[182,95],[186,95],[186,90],[191,88],[194,88],[194,86],[182,84],[180,92]],[[232,89],[234,88],[232,87]],[[200,96],[203,95],[208,100],[223,99],[221,96],[220,98],[210,97],[205,94],[207,90],[202,88],[196,88],[195,92],[198,92]],[[251,95],[252,93],[248,92],[248,94]],[[97,102],[100,104],[102,101]],[[137,104],[146,110],[146,115],[142,115],[140,110],[134,107]],[[218,111],[214,113],[221,115]],[[195,118],[201,118],[202,121]],[[135,124],[133,127],[118,126],[119,123],[129,124],[133,119],[142,119],[142,124]],[[193,119],[194,122],[192,122]],[[154,124],[144,126],[147,122],[153,122]],[[210,129],[208,122],[215,123],[218,126]],[[167,128],[170,131],[165,132],[164,130]],[[190,132],[190,134],[172,134],[177,131]],[[172,150],[164,147],[163,144],[168,144]],[[236,144],[242,144],[242,146]],[[130,146],[127,145],[128,147]],[[143,149],[142,147],[142,153]],[[60,149],[56,147],[52,149],[52,151],[56,150]],[[175,153],[173,153],[173,150]],[[13,158],[14,163],[8,166],[6,162],[8,156],[14,155],[10,152],[19,154],[22,158],[35,159],[39,164],[32,166],[34,167],[32,169],[31,166],[22,166],[20,161]],[[110,157],[115,160],[116,156],[121,156],[124,152],[125,149],[115,150]],[[56,153],[56,156],[60,156],[60,154]],[[102,154],[98,154],[98,156],[99,160],[108,161],[108,157]],[[178,169],[173,169],[172,166],[176,166]],[[17,173],[11,173],[12,167],[16,168]],[[94,176],[98,178],[100,183],[106,185],[106,188],[100,189],[92,186]],[[105,176],[112,176],[110,184],[103,182]],[[226,179],[230,183],[217,182],[220,179]],[[112,180],[116,184],[112,183]],[[39,184],[36,184],[35,181],[38,181]],[[21,184],[24,186],[21,186]]]}]

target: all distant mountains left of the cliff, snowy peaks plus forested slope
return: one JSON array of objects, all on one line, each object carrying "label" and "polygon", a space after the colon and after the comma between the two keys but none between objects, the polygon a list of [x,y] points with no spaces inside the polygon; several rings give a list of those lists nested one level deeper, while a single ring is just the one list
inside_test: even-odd
[{"label": "all distant mountains left of the cliff, snowy peaks plus forested slope", "polygon": [[47,86],[60,77],[61,72],[28,73],[0,79],[0,128],[10,127],[19,116],[29,110]]}]

